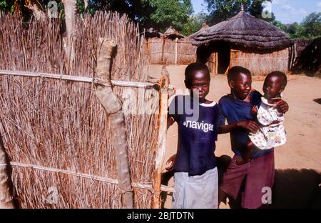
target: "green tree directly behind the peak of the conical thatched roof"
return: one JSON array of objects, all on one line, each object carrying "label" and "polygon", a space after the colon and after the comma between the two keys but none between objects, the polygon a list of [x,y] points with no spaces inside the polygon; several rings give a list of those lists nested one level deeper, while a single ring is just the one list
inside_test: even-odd
[{"label": "green tree directly behind the peak of the conical thatched roof", "polygon": [[[208,23],[213,25],[220,21],[230,19],[241,10],[243,4],[244,10],[251,15],[262,18],[263,1],[265,0],[204,0],[208,4]],[[271,1],[271,0],[267,0]]]}]

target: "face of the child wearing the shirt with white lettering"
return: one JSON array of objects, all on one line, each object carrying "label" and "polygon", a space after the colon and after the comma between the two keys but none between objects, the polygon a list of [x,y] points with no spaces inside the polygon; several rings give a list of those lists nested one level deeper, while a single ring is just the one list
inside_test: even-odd
[{"label": "face of the child wearing the shirt with white lettering", "polygon": [[195,94],[198,91],[200,102],[205,101],[205,96],[207,96],[210,91],[210,80],[208,79],[206,71],[194,71],[190,83],[185,81],[185,86],[192,91],[192,94]]}]

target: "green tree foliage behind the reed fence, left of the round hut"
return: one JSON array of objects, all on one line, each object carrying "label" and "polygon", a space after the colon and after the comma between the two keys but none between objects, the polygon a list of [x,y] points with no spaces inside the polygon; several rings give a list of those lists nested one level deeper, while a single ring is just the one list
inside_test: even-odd
[{"label": "green tree foliage behind the reed fence, left of the round hut", "polygon": [[[0,0],[0,10],[11,10],[14,2],[18,2],[21,12],[27,19],[32,11],[24,7],[26,0]],[[36,0],[41,4],[42,9],[50,0]],[[56,0],[58,10],[63,15],[63,4],[61,0]],[[84,1],[77,0],[78,13],[85,13]],[[95,11],[118,11],[127,14],[133,21],[139,22],[141,27],[160,29],[165,31],[168,26],[178,31],[182,30],[191,19],[193,6],[190,0],[88,0],[87,12],[94,14]]]}]

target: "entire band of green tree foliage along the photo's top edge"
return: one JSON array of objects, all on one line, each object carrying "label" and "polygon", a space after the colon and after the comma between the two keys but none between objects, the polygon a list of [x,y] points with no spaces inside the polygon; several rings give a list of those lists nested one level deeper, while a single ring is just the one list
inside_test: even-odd
[{"label": "entire band of green tree foliage along the photo's top edge", "polygon": [[[36,1],[41,9],[46,9],[51,0],[0,0],[1,11],[20,11],[28,20],[32,11],[24,6],[26,1]],[[133,21],[139,22],[141,28],[158,29],[165,31],[168,26],[180,31],[185,36],[193,34],[201,28],[203,22],[208,25],[217,24],[220,21],[235,16],[243,4],[245,11],[264,19],[279,29],[285,31],[291,38],[315,38],[321,36],[321,13],[315,12],[308,15],[302,23],[282,24],[275,20],[274,14],[270,18],[263,18],[264,0],[204,0],[208,5],[208,14],[193,15],[193,6],[190,0],[88,0],[88,8],[85,9],[83,0],[77,0],[78,13],[81,16],[88,12],[94,14],[98,10],[118,11],[128,14]],[[270,1],[270,0],[269,0]],[[58,11],[63,16],[63,4],[58,3]]]}]

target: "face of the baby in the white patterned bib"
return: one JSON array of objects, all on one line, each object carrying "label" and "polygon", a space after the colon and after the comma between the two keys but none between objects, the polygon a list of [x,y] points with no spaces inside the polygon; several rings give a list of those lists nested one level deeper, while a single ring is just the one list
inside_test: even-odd
[{"label": "face of the baby in the white patterned bib", "polygon": [[269,76],[266,78],[263,84],[264,97],[266,99],[280,97],[280,94],[284,89],[281,82],[282,81],[278,76]]}]

